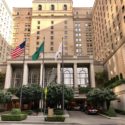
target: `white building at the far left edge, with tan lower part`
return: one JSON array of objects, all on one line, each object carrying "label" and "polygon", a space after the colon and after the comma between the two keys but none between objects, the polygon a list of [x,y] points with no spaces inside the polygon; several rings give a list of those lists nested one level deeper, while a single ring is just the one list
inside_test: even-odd
[{"label": "white building at the far left edge, with tan lower part", "polygon": [[5,2],[0,1],[0,62],[5,62],[11,50],[11,12]]}]

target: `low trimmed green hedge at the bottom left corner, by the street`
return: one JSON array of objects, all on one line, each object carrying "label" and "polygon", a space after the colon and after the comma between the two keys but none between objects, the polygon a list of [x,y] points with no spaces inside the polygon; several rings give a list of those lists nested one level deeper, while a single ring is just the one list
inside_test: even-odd
[{"label": "low trimmed green hedge at the bottom left corner, by the street", "polygon": [[26,114],[2,114],[1,120],[2,121],[21,121],[27,118]]}]

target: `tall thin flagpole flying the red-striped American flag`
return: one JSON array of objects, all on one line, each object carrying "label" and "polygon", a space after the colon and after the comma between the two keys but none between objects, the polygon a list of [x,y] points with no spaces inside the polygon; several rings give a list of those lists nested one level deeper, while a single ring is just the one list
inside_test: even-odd
[{"label": "tall thin flagpole flying the red-striped American flag", "polygon": [[[23,77],[24,77],[24,63],[25,63],[25,53],[26,53],[26,38],[25,38],[25,47],[24,47],[24,56],[23,56]],[[20,87],[20,109],[22,108],[22,87],[23,87],[23,80],[22,80],[22,84]]]}]

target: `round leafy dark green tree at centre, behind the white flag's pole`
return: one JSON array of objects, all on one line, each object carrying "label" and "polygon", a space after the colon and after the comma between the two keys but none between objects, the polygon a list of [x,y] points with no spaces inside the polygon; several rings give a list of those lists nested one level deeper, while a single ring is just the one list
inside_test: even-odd
[{"label": "round leafy dark green tree at centre, behind the white flag's pole", "polygon": [[[62,85],[53,84],[49,85],[47,93],[47,104],[51,108],[57,108],[62,105]],[[64,102],[65,105],[73,99],[73,89],[64,86]]]}]

